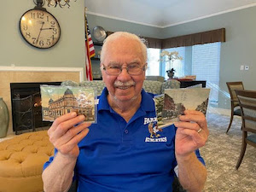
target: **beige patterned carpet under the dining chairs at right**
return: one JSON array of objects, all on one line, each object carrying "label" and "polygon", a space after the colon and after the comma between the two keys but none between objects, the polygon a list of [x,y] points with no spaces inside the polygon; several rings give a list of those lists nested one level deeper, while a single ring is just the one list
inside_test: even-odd
[{"label": "beige patterned carpet under the dining chairs at right", "polygon": [[208,177],[205,192],[256,192],[256,148],[247,145],[241,166],[236,162],[241,150],[241,118],[233,120],[225,133],[230,117],[215,113],[207,115],[210,136],[201,155],[206,160]]}]

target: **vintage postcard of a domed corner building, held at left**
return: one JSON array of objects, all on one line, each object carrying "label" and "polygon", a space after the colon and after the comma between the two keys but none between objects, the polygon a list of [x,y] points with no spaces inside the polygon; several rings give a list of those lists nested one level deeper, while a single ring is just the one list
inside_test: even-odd
[{"label": "vintage postcard of a domed corner building, held at left", "polygon": [[85,121],[96,122],[95,90],[84,87],[41,85],[42,118],[54,121],[63,114],[84,114]]}]

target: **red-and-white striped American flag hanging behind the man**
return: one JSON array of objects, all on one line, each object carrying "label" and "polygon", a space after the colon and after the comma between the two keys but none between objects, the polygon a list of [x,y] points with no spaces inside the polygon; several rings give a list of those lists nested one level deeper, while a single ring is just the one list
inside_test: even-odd
[{"label": "red-and-white striped American flag hanging behind the man", "polygon": [[92,68],[90,58],[95,55],[95,49],[93,42],[91,40],[90,30],[87,22],[86,15],[85,18],[85,49],[86,49],[86,59],[85,59],[85,70],[86,70],[86,78],[87,80],[92,81]]}]

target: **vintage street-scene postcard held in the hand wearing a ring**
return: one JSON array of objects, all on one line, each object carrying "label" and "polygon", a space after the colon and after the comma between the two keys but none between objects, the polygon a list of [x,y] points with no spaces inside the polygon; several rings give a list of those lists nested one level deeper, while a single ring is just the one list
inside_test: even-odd
[{"label": "vintage street-scene postcard held in the hand wearing a ring", "polygon": [[158,125],[165,127],[178,121],[184,110],[197,110],[206,115],[210,89],[166,89],[165,94],[154,96]]}]

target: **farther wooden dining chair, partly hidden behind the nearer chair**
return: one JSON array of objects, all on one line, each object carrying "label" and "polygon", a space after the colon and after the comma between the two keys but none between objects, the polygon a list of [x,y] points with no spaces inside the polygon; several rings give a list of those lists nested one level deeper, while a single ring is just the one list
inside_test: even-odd
[{"label": "farther wooden dining chair, partly hidden behind the nearer chair", "polygon": [[239,107],[239,102],[238,102],[235,90],[244,90],[244,87],[241,81],[227,82],[226,84],[230,92],[230,102],[231,102],[230,125],[226,131],[226,133],[228,133],[230,131],[230,126],[232,124],[234,115],[241,116],[241,108]]}]

